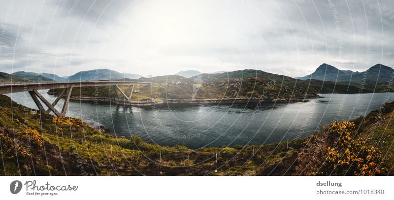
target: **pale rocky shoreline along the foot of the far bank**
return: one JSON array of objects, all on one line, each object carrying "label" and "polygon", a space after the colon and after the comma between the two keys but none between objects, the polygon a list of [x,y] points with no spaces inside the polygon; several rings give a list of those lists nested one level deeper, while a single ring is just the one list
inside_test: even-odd
[{"label": "pale rocky shoreline along the foot of the far bank", "polygon": [[[52,92],[48,92],[49,95],[56,95]],[[95,103],[114,103],[120,105],[130,106],[155,106],[160,104],[234,104],[234,103],[259,103],[259,102],[308,102],[307,99],[318,99],[321,98],[319,95],[308,95],[306,98],[297,99],[259,99],[259,98],[229,98],[229,99],[204,99],[204,100],[178,100],[178,99],[166,99],[166,100],[140,100],[140,101],[124,101],[115,100],[113,98],[106,97],[70,97],[70,100],[87,101]]]}]

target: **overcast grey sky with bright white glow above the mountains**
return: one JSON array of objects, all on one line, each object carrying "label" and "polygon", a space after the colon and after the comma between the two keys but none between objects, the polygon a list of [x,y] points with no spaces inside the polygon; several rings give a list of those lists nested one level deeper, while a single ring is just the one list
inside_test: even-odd
[{"label": "overcast grey sky with bright white glow above the mountains", "polygon": [[0,0],[0,71],[394,67],[394,0]]}]

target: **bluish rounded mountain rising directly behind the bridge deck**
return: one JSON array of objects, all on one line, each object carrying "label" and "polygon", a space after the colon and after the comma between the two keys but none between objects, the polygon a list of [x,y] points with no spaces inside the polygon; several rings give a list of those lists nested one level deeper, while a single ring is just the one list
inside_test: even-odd
[{"label": "bluish rounded mountain rising directly behind the bridge deck", "polygon": [[93,69],[80,71],[68,76],[69,81],[93,81],[93,80],[119,80],[122,78],[136,79],[142,77],[138,74],[120,73],[111,69]]}]

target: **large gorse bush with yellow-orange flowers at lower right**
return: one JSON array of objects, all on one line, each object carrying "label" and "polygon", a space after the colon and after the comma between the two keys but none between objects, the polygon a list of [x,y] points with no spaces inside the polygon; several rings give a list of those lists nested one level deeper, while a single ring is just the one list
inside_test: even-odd
[{"label": "large gorse bush with yellow-orange flowers at lower right", "polygon": [[311,136],[298,154],[296,171],[303,175],[378,175],[382,152],[358,137],[353,122],[332,122]]}]

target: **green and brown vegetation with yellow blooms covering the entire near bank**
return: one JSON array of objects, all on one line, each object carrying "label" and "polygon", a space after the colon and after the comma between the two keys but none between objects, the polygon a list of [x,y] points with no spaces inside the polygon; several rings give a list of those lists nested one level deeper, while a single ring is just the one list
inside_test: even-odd
[{"label": "green and brown vegetation with yellow blooms covering the entire near bank", "polygon": [[[198,150],[118,138],[0,96],[2,175],[392,175],[394,103],[307,138]],[[377,120],[376,116],[379,116]]]}]

